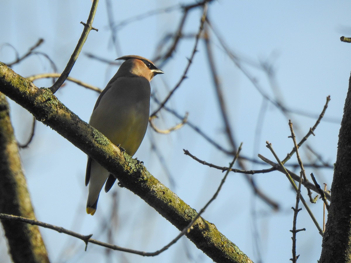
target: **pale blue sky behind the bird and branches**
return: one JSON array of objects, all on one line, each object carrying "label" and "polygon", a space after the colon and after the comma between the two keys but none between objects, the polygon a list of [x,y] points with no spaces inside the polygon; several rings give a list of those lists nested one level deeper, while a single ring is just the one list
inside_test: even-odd
[{"label": "pale blue sky behind the bird and branches", "polygon": [[[112,13],[114,21],[118,23],[177,4],[176,1],[160,0],[116,1],[112,5]],[[24,54],[39,38],[44,38],[45,42],[37,50],[52,58],[58,72],[62,72],[82,32],[80,21],[87,20],[91,1],[2,1],[0,7],[0,16],[8,21],[0,34],[0,61],[11,62],[15,57],[13,49],[5,43],[11,44],[19,54]],[[223,0],[214,1],[208,8],[213,27],[266,94],[274,98],[275,93],[266,74],[256,65],[268,62],[274,69],[276,86],[287,108],[318,116],[326,96],[331,95],[325,114],[327,121],[322,120],[316,136],[308,140],[311,147],[331,164],[336,159],[339,123],[350,77],[351,46],[339,40],[342,35],[351,35],[350,19],[346,15],[349,8],[349,1]],[[106,9],[106,2],[100,1],[93,23],[99,31],[90,33],[70,74],[100,88],[105,87],[118,67],[92,60],[87,53],[111,61],[130,54],[152,60],[158,52],[160,39],[177,28],[181,16],[179,9],[174,9],[166,14],[127,23],[119,28],[119,46],[116,48],[111,41]],[[197,32],[200,15],[199,9],[190,13],[184,33]],[[237,142],[243,142],[243,155],[257,159],[259,153],[273,160],[274,157],[265,147],[265,142],[269,141],[278,155],[284,158],[292,149],[291,139],[287,138],[290,135],[287,118],[272,104],[264,104],[256,88],[227,57],[213,32],[210,33],[230,124]],[[163,99],[178,82],[193,45],[194,39],[182,41],[172,59],[160,67],[165,74],[156,76],[151,82],[152,92],[159,99]],[[167,47],[166,44],[161,50]],[[203,41],[199,42],[198,51],[188,79],[167,106],[181,115],[188,112],[189,121],[229,148]],[[48,60],[41,55],[31,56],[13,69],[23,76],[53,71]],[[38,87],[51,86],[48,80],[34,83]],[[69,82],[56,95],[84,121],[89,120],[98,97],[97,93]],[[152,103],[151,111],[155,108],[155,103]],[[28,137],[31,114],[13,102],[11,110],[15,134],[23,142]],[[315,117],[299,114],[290,114],[289,117],[296,126],[298,139],[316,121]],[[258,119],[261,121],[259,128]],[[158,127],[166,129],[177,122],[171,114],[161,111],[156,123]],[[152,142],[156,143],[159,154],[163,156],[174,185],[157,153],[152,150]],[[149,127],[135,157],[144,161],[147,169],[186,203],[200,210],[216,191],[223,174],[185,156],[183,148],[219,166],[227,166],[231,162],[230,156],[218,152],[188,126],[170,135],[157,134]],[[309,162],[307,154],[302,151],[302,155],[304,161]],[[102,241],[108,240],[106,231],[101,231],[102,225],[113,225],[113,231],[110,231],[113,243],[144,251],[155,251],[178,234],[173,225],[143,200],[117,186],[113,189],[117,191],[117,198],[112,198],[112,192],[101,194],[97,213],[93,217],[86,215],[86,155],[39,122],[34,141],[28,149],[21,150],[21,157],[35,213],[40,221],[81,234],[94,234],[94,238]],[[296,163],[296,159],[291,162]],[[260,164],[247,163],[247,166],[249,169],[267,168]],[[324,169],[317,173],[307,168],[306,174],[312,171],[320,184],[326,182],[330,189],[332,170]],[[257,174],[254,178],[260,189],[279,202],[280,211],[272,211],[255,197],[242,175],[231,174],[218,198],[203,216],[254,262],[288,262],[291,258],[291,207],[295,204],[295,194],[281,173]],[[110,220],[113,200],[118,203],[118,222]],[[311,205],[320,225],[322,207],[320,200]],[[306,228],[305,232],[298,234],[298,262],[316,262],[320,256],[322,238],[305,209],[299,213],[297,227]],[[158,257],[143,258],[116,251],[106,257],[105,249],[96,245],[90,244],[85,252],[85,244],[73,237],[46,229],[41,229],[41,232],[52,262],[212,262],[185,237]],[[254,245],[255,240],[259,252]],[[0,246],[1,254],[6,254],[4,238],[0,239]],[[6,260],[9,259],[2,261]]]}]

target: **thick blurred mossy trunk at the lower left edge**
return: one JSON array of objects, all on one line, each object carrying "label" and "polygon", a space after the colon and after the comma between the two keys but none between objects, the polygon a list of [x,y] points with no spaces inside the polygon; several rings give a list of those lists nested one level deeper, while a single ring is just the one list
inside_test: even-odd
[{"label": "thick blurred mossy trunk at the lower left edge", "polygon": [[[14,74],[14,73],[13,73]],[[6,96],[0,93],[0,213],[35,218]],[[1,220],[13,262],[49,262],[38,227]]]}]

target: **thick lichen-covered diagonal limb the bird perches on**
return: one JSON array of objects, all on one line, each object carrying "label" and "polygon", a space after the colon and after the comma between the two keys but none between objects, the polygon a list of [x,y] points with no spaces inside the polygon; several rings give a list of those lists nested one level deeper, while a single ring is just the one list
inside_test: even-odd
[{"label": "thick lichen-covered diagonal limb the bird perches on", "polygon": [[[139,161],[114,146],[104,135],[65,107],[50,89],[39,89],[0,62],[0,92],[25,107],[114,174],[121,184],[183,230],[197,215],[175,193],[154,178]],[[186,236],[217,262],[251,262],[239,248],[202,217]],[[220,237],[220,238],[218,238]]]}]

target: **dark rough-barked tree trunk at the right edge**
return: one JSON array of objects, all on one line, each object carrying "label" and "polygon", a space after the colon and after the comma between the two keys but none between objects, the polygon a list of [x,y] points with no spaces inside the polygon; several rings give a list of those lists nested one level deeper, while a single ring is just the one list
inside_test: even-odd
[{"label": "dark rough-barked tree trunk at the right edge", "polygon": [[331,202],[320,263],[351,262],[351,77],[339,131]]}]

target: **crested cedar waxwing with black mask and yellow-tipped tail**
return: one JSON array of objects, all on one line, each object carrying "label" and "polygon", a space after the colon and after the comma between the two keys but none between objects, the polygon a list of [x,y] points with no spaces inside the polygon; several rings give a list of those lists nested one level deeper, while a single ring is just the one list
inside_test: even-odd
[{"label": "crested cedar waxwing with black mask and yellow-tipped tail", "polygon": [[[150,81],[164,72],[141,56],[122,56],[125,60],[100,94],[89,124],[115,145],[133,156],[143,141],[150,114]],[[107,181],[106,181],[107,180]],[[116,178],[88,157],[85,185],[89,183],[87,213],[94,215],[99,194],[111,189]]]}]

